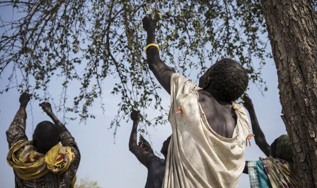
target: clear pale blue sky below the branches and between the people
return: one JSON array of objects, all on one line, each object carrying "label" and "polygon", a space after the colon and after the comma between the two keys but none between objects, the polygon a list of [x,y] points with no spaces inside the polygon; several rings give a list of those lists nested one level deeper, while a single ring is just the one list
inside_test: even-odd
[{"label": "clear pale blue sky below the branches and between the people", "polygon": [[[5,17],[6,11],[0,9],[1,18]],[[7,75],[4,73],[0,78],[0,88],[7,84]],[[266,81],[268,91],[264,92],[264,96],[254,85],[249,85],[248,94],[253,100],[255,110],[261,128],[264,131],[266,139],[269,143],[274,141],[279,135],[286,134],[285,126],[281,120],[281,105],[277,89],[277,74],[272,59],[266,60],[263,67],[263,78]],[[128,141],[132,128],[132,122],[122,122],[116,134],[115,144],[113,140],[113,130],[109,129],[111,120],[117,111],[117,103],[121,96],[110,94],[113,88],[112,78],[107,78],[103,84],[104,102],[106,111],[103,113],[98,102],[90,109],[96,115],[96,119],[87,120],[87,124],[80,124],[78,121],[66,122],[66,127],[73,135],[78,143],[81,152],[81,163],[78,169],[78,179],[89,177],[92,181],[97,181],[102,188],[142,188],[145,186],[147,169],[138,162],[136,157],[129,151]],[[192,74],[190,79],[196,81],[196,75]],[[72,85],[69,88],[69,95],[76,88]],[[57,99],[58,93],[54,91],[60,90],[58,82],[52,82],[50,90],[53,91],[53,97]],[[160,91],[162,96],[162,105],[167,108],[169,106],[169,95],[165,91]],[[7,93],[0,95],[0,182],[1,187],[14,187],[13,170],[6,163],[6,154],[8,151],[5,131],[9,127],[13,117],[19,107],[18,92],[15,89],[9,90]],[[55,101],[55,102],[56,102]],[[50,101],[52,102],[52,101]],[[37,123],[50,120],[49,117],[42,112],[38,106],[39,101],[31,100],[27,107],[28,119],[26,134],[32,138],[33,127]],[[32,113],[31,113],[32,105]],[[155,111],[148,109],[149,115],[155,116]],[[56,111],[54,111],[56,112]],[[33,117],[32,117],[33,114]],[[61,113],[57,113],[57,117],[61,117]],[[159,155],[162,142],[171,134],[169,124],[148,128],[151,136],[152,147]],[[146,138],[149,138],[148,136]],[[257,147],[252,139],[252,146],[246,148],[246,159],[257,160],[260,156],[264,157],[264,153]],[[160,155],[160,157],[163,157]],[[240,188],[249,188],[249,178],[242,175],[239,181]]]}]

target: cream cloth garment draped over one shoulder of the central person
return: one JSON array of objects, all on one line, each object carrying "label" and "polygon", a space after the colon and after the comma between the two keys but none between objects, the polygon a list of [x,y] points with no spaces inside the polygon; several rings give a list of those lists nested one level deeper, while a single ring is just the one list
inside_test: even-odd
[{"label": "cream cloth garment draped over one shoulder of the central person", "polygon": [[233,102],[237,114],[233,137],[221,137],[207,122],[198,90],[201,88],[184,76],[171,76],[172,137],[162,188],[236,188],[250,131],[246,112]]}]

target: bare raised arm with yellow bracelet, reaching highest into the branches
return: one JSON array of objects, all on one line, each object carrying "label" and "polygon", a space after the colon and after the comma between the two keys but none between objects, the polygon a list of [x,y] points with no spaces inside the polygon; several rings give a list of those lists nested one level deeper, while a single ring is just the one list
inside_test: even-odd
[{"label": "bare raised arm with yellow bracelet, reaching highest into the branches", "polygon": [[[155,28],[157,20],[145,16],[143,18],[143,28],[147,31],[147,45],[156,44]],[[170,77],[174,72],[159,58],[159,49],[155,46],[147,48],[147,61],[154,76],[158,79],[159,84],[170,94]]]}]

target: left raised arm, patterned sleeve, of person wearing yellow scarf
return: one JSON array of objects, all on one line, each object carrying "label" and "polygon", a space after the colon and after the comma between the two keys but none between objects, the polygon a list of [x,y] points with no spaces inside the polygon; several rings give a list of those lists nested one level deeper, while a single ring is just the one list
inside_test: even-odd
[{"label": "left raised arm, patterned sleeve, of person wearing yellow scarf", "polygon": [[6,131],[6,140],[8,141],[9,147],[11,147],[16,141],[27,140],[25,135],[26,126],[26,106],[30,101],[32,94],[23,93],[20,95],[20,107],[16,112],[14,119]]}]

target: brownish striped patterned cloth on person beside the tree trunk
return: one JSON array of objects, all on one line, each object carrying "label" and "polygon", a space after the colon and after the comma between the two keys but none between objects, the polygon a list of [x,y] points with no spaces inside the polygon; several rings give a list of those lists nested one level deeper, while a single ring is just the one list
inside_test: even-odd
[{"label": "brownish striped patterned cloth on person beside the tree trunk", "polygon": [[267,157],[263,164],[273,188],[298,188],[298,179],[292,173],[292,163],[277,157]]}]

